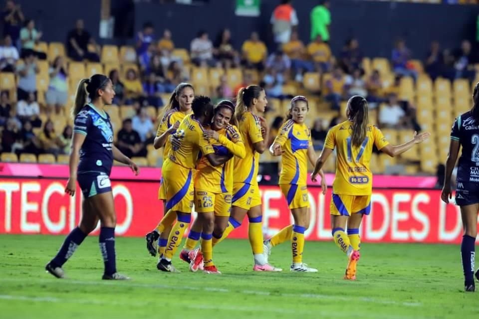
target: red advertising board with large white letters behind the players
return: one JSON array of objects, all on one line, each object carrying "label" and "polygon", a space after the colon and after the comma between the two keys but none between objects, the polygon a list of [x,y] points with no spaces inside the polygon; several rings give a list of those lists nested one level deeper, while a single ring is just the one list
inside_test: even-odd
[{"label": "red advertising board with large white letters behind the players", "polygon": [[[163,215],[156,199],[158,182],[112,181],[117,212],[116,232],[121,236],[144,236]],[[67,234],[81,216],[81,192],[64,193],[65,179],[1,178],[0,233]],[[292,222],[279,187],[260,187],[265,236]],[[309,187],[311,222],[307,240],[330,240],[331,189]],[[366,242],[459,243],[462,223],[459,208],[446,205],[439,190],[374,189],[372,209],[363,219],[360,233]],[[195,214],[194,214],[195,216]],[[247,219],[243,221],[247,224]],[[247,238],[247,227],[231,238]]]}]

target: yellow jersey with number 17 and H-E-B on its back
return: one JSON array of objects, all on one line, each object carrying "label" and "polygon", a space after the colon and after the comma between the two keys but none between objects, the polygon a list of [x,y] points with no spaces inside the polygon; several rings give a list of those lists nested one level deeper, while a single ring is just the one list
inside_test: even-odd
[{"label": "yellow jersey with number 17 and H-E-B on its back", "polygon": [[372,173],[369,168],[373,145],[381,150],[389,142],[376,126],[368,124],[366,138],[359,147],[352,145],[352,122],[345,121],[332,127],[324,147],[336,148],[336,176],[333,193],[338,195],[371,195]]}]

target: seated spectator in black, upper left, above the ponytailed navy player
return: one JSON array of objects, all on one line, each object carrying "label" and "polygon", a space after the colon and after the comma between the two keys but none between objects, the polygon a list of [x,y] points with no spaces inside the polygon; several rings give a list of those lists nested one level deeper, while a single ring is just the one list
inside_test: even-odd
[{"label": "seated spectator in black, upper left, above the ponytailed navy player", "polygon": [[[94,46],[95,50],[88,51],[88,44]],[[75,61],[87,59],[92,62],[100,62],[95,39],[84,29],[82,19],[76,20],[75,28],[68,32],[66,49],[68,57]]]}]

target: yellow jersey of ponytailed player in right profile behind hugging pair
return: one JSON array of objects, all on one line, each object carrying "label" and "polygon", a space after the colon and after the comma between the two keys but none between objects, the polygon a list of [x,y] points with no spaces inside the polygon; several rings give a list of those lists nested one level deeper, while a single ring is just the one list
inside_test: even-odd
[{"label": "yellow jersey of ponytailed player in right profile behind hugging pair", "polygon": [[259,154],[254,151],[253,144],[263,141],[259,118],[249,111],[244,112],[239,129],[246,155],[244,159],[234,158],[234,182],[257,185]]}]

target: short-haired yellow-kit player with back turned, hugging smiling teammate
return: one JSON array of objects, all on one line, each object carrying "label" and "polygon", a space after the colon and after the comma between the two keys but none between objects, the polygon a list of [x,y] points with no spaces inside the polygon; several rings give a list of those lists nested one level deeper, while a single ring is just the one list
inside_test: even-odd
[{"label": "short-haired yellow-kit player with back turned, hugging smiling teammate", "polygon": [[[166,191],[166,208],[176,214],[177,223],[173,226],[165,253],[160,256],[157,268],[166,272],[177,272],[171,259],[180,246],[185,230],[191,221],[193,206],[193,169],[200,158],[200,152],[213,166],[223,162],[214,154],[212,145],[203,137],[203,125],[210,124],[213,105],[205,96],[196,97],[192,103],[193,114],[187,115],[176,133],[181,146],[172,147],[163,162],[163,183]],[[165,216],[163,219],[167,218]],[[163,220],[162,220],[163,222]]]}]

